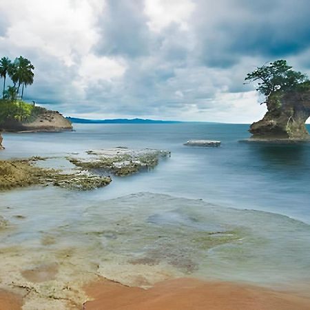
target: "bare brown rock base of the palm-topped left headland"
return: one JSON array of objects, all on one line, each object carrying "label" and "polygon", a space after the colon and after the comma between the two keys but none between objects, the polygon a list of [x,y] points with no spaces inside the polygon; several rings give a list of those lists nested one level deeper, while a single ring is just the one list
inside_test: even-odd
[{"label": "bare brown rock base of the palm-topped left headland", "polygon": [[72,123],[58,111],[44,110],[30,122],[8,120],[2,123],[0,127],[12,132],[61,132],[72,130]]}]

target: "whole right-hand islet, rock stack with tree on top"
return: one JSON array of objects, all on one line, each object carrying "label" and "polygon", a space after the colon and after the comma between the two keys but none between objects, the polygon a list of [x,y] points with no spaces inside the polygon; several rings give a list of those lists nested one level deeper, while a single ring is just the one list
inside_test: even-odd
[{"label": "whole right-hand islet, rock stack with tree on top", "polygon": [[310,81],[287,61],[262,65],[247,74],[245,81],[259,81],[257,91],[265,96],[267,113],[249,129],[249,141],[310,141],[305,122],[310,116]]}]

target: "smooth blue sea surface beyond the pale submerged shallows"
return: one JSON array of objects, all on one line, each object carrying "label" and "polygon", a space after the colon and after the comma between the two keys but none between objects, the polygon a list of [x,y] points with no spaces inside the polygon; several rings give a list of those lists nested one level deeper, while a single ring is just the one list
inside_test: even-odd
[{"label": "smooth blue sea surface beyond the pale submerged shallows", "polygon": [[[80,125],[76,132],[3,134],[0,158],[61,156],[87,149],[127,146],[169,149],[154,171],[115,182],[95,194],[116,198],[136,192],[202,198],[225,207],[285,214],[310,223],[310,144],[239,143],[248,125]],[[222,141],[218,148],[186,147],[189,139]]]}]

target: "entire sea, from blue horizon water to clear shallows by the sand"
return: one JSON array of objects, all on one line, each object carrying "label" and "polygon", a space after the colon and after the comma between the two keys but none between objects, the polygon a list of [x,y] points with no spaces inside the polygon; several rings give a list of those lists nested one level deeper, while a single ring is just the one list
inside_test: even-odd
[{"label": "entire sea, from blue horizon water to clear shallows by the sand", "polygon": [[[169,149],[172,156],[90,192],[1,192],[1,215],[15,227],[1,247],[16,247],[19,260],[2,253],[10,263],[0,272],[20,280],[17,265],[63,260],[59,253],[70,249],[74,268],[127,285],[178,276],[309,285],[310,144],[242,143],[248,127],[74,124],[74,132],[3,134],[0,158],[64,158],[119,146]],[[183,145],[191,139],[221,145]]]}]

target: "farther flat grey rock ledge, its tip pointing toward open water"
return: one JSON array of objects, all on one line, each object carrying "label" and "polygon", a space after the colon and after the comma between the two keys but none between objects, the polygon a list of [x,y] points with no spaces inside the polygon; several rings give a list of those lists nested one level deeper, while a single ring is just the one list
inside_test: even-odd
[{"label": "farther flat grey rock ledge, its tip pointing toward open water", "polygon": [[88,156],[68,157],[68,161],[87,170],[101,169],[115,176],[127,176],[143,169],[152,169],[160,158],[171,156],[171,152],[158,149],[128,149],[115,147],[87,151]]}]

